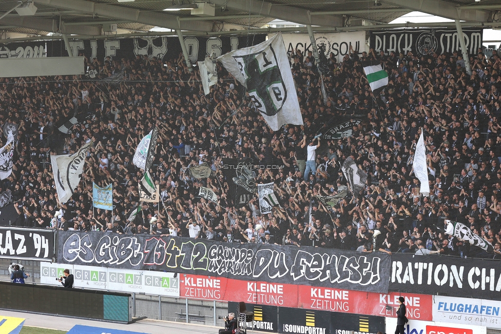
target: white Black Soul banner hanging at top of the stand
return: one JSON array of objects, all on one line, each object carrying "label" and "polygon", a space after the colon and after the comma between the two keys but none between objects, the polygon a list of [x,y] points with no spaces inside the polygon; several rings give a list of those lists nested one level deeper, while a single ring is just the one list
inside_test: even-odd
[{"label": "white Black Soul banner hanging at top of the stand", "polygon": [[[269,38],[275,34],[270,34]],[[300,50],[305,56],[308,51],[312,51],[312,43],[310,36],[306,33],[293,34],[283,33],[283,43],[287,52]],[[334,53],[338,62],[342,62],[344,56],[349,53],[350,46],[356,53],[365,51],[365,31],[357,32],[338,32],[338,33],[317,33],[315,34],[315,41],[319,49],[323,49],[327,58],[330,53]]]}]

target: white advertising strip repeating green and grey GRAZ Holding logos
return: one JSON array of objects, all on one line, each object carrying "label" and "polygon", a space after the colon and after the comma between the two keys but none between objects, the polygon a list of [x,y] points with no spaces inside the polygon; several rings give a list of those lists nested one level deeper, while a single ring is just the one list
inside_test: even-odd
[{"label": "white advertising strip repeating green and grey GRAZ Holding logos", "polygon": [[173,273],[42,263],[40,283],[60,286],[63,271],[73,274],[75,288],[157,294],[179,298],[179,279]]}]

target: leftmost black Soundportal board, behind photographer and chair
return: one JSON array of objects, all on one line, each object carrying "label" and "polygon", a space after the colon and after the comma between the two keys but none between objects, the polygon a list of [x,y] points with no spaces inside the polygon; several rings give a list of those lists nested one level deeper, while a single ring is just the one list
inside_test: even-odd
[{"label": "leftmost black Soundportal board, behind photographer and chair", "polygon": [[[247,323],[247,328],[253,330],[278,332],[278,307],[271,305],[254,305],[245,303],[248,311],[254,312],[254,321]],[[235,313],[238,317],[238,302],[228,302],[228,313]]]}]

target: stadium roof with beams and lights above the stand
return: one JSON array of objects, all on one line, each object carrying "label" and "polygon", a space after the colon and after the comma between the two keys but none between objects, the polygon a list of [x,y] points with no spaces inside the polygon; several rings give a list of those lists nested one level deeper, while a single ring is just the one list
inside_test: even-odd
[{"label": "stadium roof with beams and lights above the stand", "polygon": [[[120,2],[119,2],[120,1]],[[305,31],[305,28],[262,28],[274,19],[311,24],[315,31],[346,31],[422,26],[408,23],[388,25],[403,14],[421,11],[464,21],[465,25],[501,25],[499,0],[208,0],[214,16],[192,15],[190,10],[165,11],[166,8],[194,7],[199,0],[33,0],[32,16],[20,16],[16,10],[0,19],[0,31],[36,35],[64,33],[73,38],[110,34],[116,24],[118,33],[159,34],[153,27],[182,29],[184,35],[218,35]],[[0,15],[20,2],[0,2]],[[198,4],[197,4],[198,3]],[[452,23],[453,25],[454,23]],[[451,25],[451,23],[435,24]],[[430,26],[427,24],[427,26]],[[111,29],[113,30],[113,29]],[[114,33],[114,32],[113,32]],[[173,32],[174,33],[174,32]],[[58,34],[59,36],[59,34]]]}]

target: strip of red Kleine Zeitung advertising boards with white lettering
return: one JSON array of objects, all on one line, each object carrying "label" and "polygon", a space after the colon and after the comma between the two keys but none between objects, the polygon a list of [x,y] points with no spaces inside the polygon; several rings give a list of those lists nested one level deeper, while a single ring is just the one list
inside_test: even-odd
[{"label": "strip of red Kleine Zeitung advertising boards with white lettering", "polygon": [[249,304],[318,309],[369,316],[396,317],[397,301],[400,295],[405,298],[407,318],[433,320],[431,295],[383,294],[189,274],[183,274],[180,277],[181,298],[243,301]]}]

